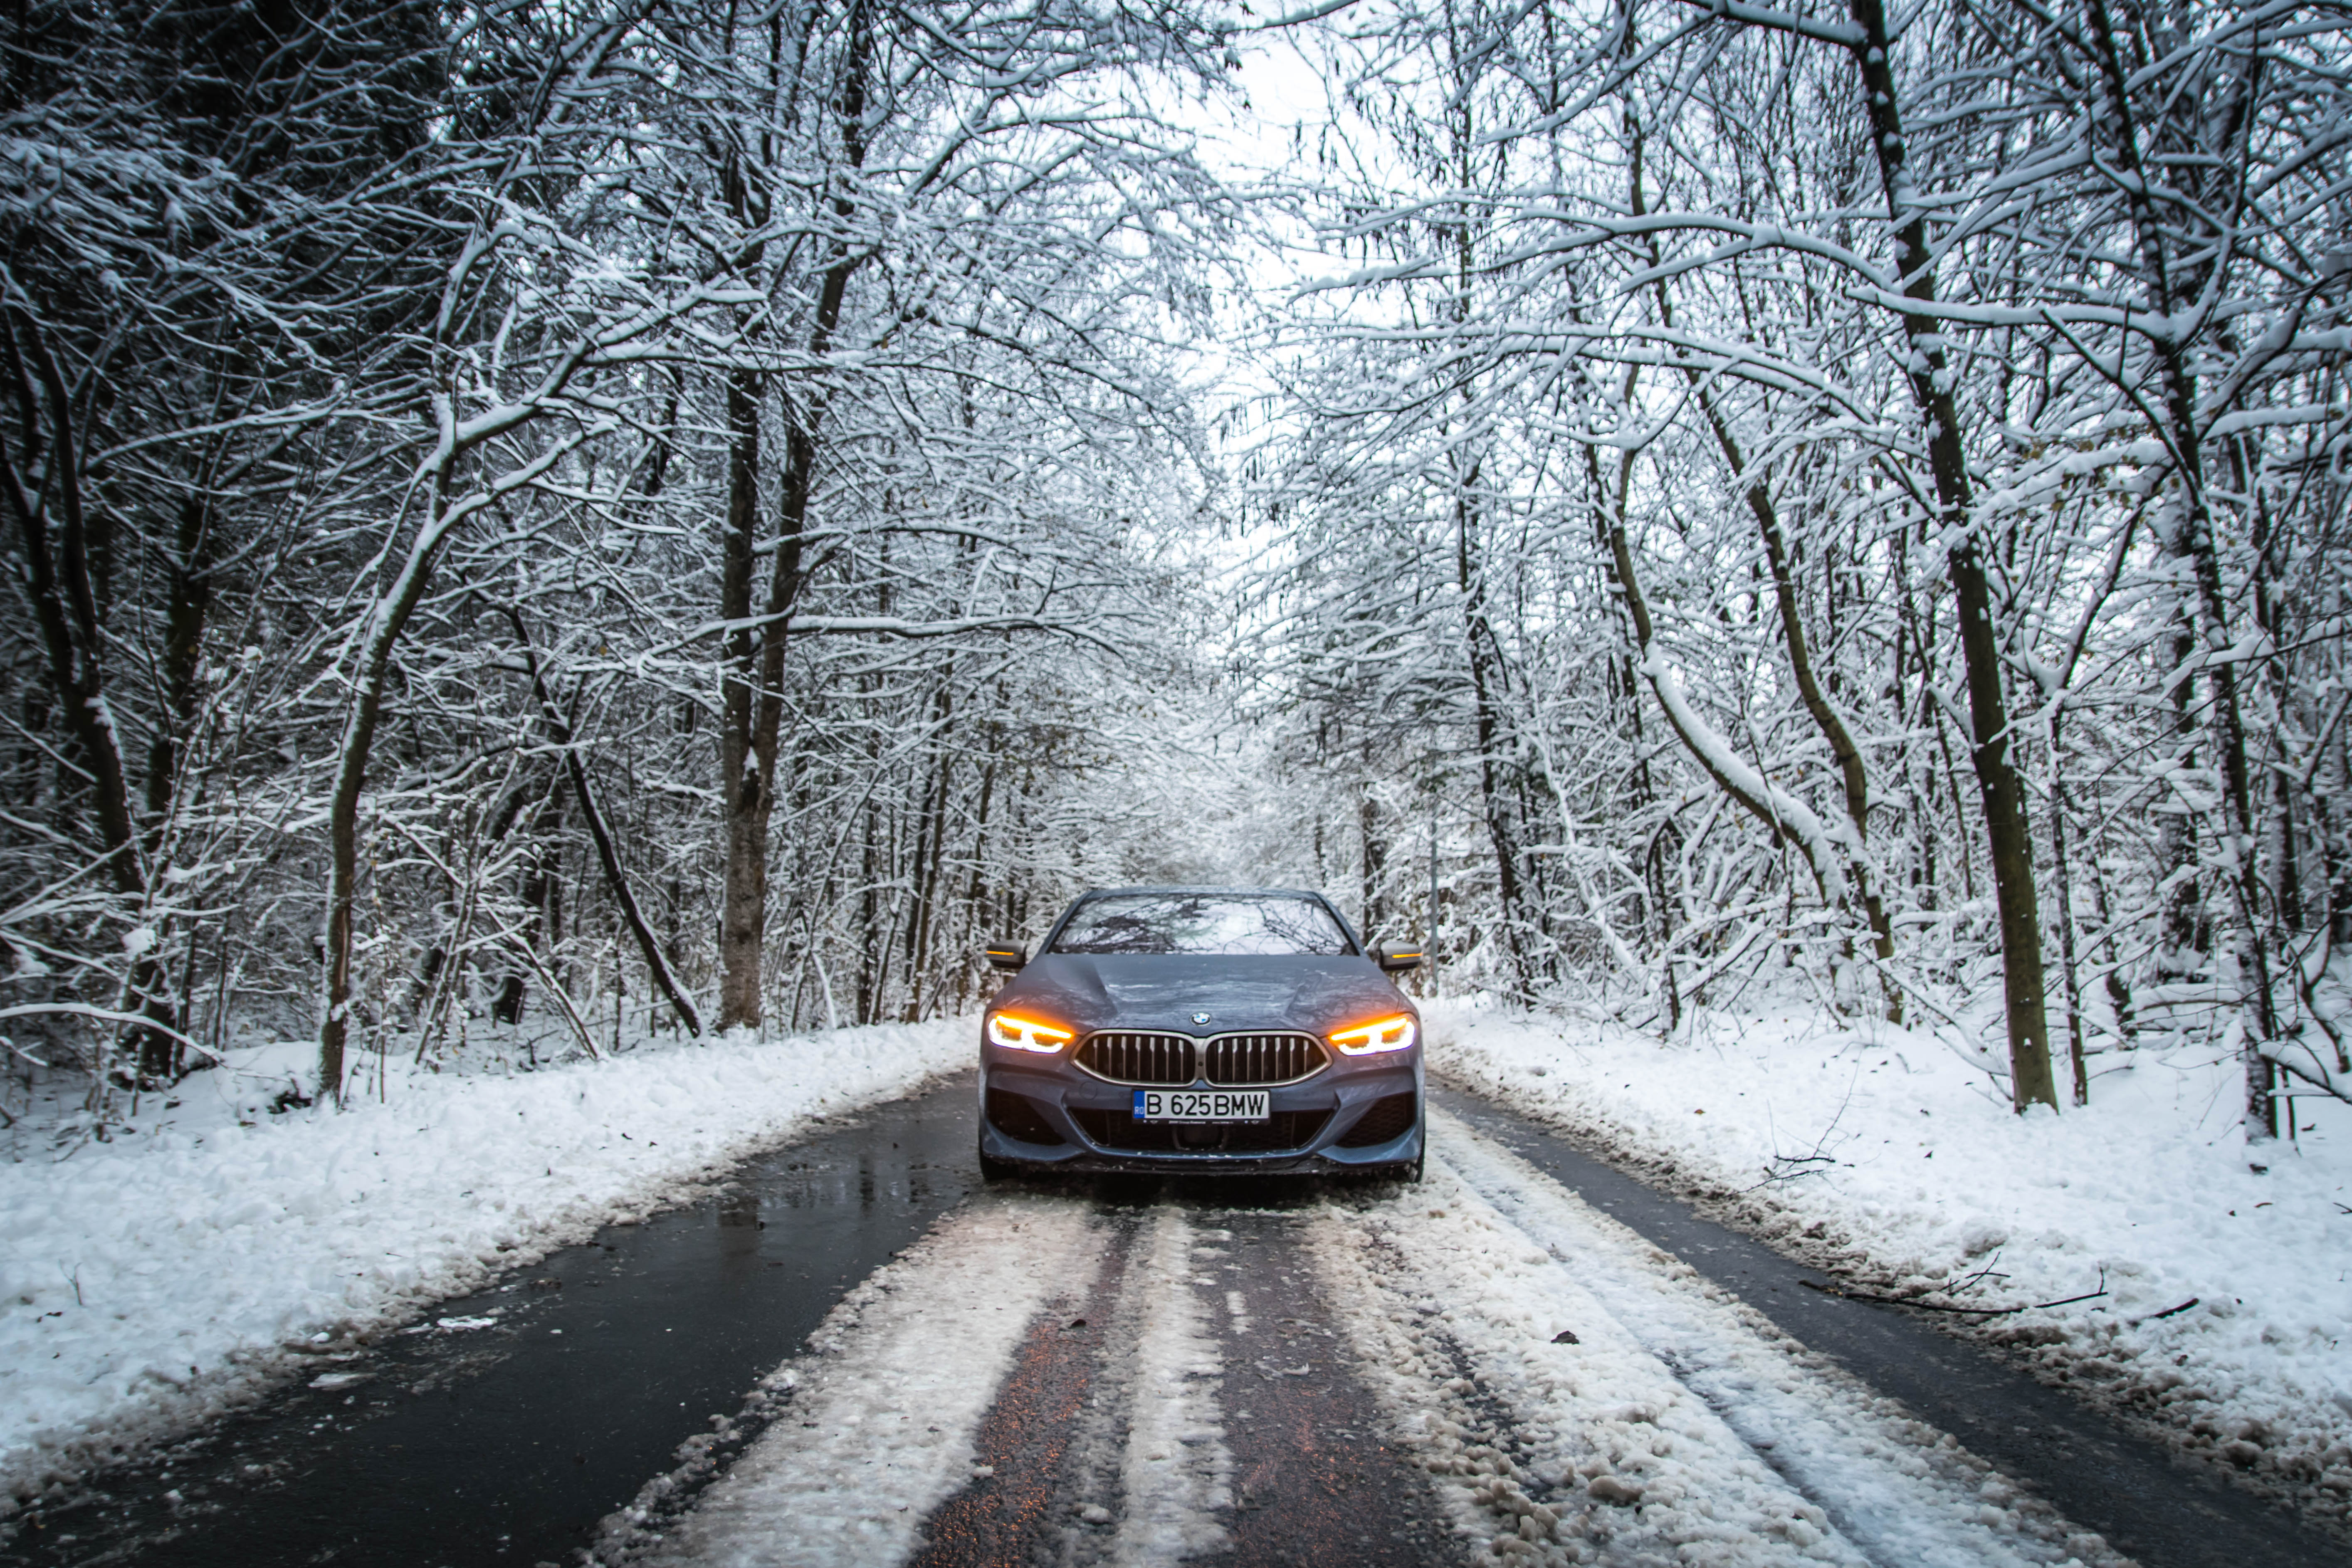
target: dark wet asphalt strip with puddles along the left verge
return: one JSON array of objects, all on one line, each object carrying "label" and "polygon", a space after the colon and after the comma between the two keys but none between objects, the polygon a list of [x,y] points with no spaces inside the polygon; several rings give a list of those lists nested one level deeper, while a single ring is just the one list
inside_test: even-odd
[{"label": "dark wet asphalt strip with puddles along the left verge", "polygon": [[[739,1168],[12,1521],[0,1563],[572,1563],[675,1448],[978,1185],[969,1077]],[[336,1352],[341,1356],[341,1352]]]}]

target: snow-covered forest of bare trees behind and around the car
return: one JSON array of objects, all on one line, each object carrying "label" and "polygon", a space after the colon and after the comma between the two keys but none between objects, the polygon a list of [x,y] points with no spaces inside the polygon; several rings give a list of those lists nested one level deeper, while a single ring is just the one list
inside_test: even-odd
[{"label": "snow-covered forest of bare trees behind and around the car", "polygon": [[0,1039],[101,1126],[247,1037],[332,1103],[957,1013],[1167,879],[2020,1110],[2147,1041],[2253,1140],[2352,1098],[2340,2],[26,0],[0,61]]}]

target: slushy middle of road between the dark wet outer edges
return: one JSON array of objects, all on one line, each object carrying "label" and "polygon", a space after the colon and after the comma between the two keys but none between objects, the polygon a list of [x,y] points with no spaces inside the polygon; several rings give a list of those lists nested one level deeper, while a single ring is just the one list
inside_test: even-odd
[{"label": "slushy middle of road between the dark wet outer edges", "polygon": [[616,1519],[604,1561],[2126,1561],[1432,1131],[1418,1187],[976,1199],[779,1371],[790,1408],[696,1512]]}]

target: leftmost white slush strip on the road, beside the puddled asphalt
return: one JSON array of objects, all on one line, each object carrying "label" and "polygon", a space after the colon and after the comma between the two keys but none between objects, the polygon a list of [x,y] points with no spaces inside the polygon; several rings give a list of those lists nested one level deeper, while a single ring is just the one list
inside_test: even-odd
[{"label": "leftmost white slush strip on the road, beside the puddled asphalt", "polygon": [[663,1566],[903,1563],[974,1469],[974,1434],[1040,1312],[1103,1265],[1080,1199],[988,1197],[875,1269],[767,1387],[790,1403],[647,1554]]}]

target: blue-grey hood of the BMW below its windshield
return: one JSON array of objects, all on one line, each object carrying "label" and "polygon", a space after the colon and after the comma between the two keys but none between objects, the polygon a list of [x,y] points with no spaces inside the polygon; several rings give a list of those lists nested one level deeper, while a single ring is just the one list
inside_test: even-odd
[{"label": "blue-grey hood of the BMW below its windshield", "polygon": [[[993,1006],[1035,1009],[1077,1030],[1329,1030],[1411,1011],[1364,957],[1040,954]],[[1192,1023],[1209,1013],[1209,1023]]]}]

